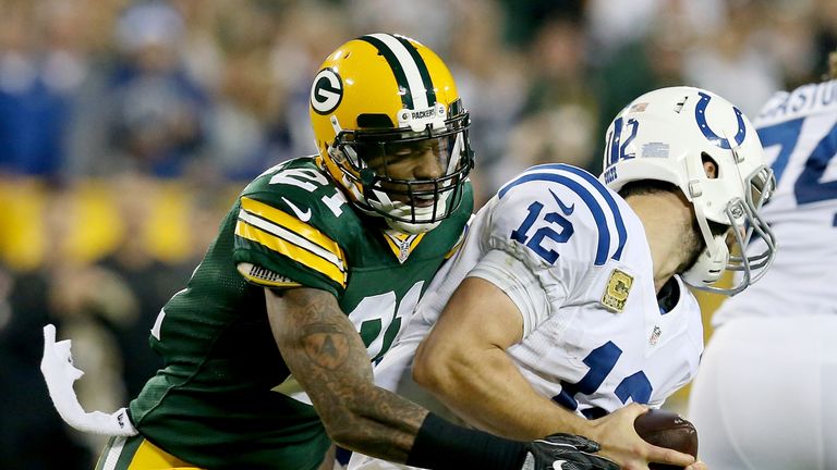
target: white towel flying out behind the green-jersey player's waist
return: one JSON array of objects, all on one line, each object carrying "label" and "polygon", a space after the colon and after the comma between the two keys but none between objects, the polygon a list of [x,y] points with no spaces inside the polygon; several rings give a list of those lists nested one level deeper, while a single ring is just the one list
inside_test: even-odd
[{"label": "white towel flying out behind the green-jersey player's waist", "polygon": [[70,339],[56,343],[56,326],[44,326],[44,357],[40,359],[40,372],[47,381],[49,397],[68,424],[78,431],[132,436],[136,435],[136,429],[128,419],[128,410],[120,408],[108,415],[101,411],[86,412],[75,396],[73,382],[77,381],[84,372],[73,366],[73,356],[70,352]]}]

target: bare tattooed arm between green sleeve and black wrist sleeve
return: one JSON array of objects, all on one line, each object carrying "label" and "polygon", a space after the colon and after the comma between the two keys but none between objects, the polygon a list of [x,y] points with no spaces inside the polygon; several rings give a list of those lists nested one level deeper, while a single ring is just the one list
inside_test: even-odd
[{"label": "bare tattooed arm between green sleeve and black wrist sleeve", "polygon": [[333,295],[265,289],[276,343],[328,435],[363,454],[403,462],[427,410],[376,387],[361,336]]}]

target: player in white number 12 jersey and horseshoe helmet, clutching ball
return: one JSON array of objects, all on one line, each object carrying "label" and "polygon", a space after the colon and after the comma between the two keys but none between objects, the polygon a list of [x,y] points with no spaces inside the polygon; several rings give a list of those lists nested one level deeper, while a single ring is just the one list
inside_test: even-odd
[{"label": "player in white number 12 jersey and horseshoe helmet, clutching ball", "polygon": [[[771,263],[757,210],[775,181],[748,119],[691,87],[626,107],[604,168],[596,178],[546,164],[507,183],[376,381],[422,399],[414,379],[465,422],[507,437],[587,435],[624,469],[705,468],[644,443],[633,420],[698,369],[703,329],[687,284],[732,294]],[[730,256],[751,238],[765,240],[759,253]],[[743,275],[723,288],[727,269]],[[354,456],[350,468],[396,467]]]}]

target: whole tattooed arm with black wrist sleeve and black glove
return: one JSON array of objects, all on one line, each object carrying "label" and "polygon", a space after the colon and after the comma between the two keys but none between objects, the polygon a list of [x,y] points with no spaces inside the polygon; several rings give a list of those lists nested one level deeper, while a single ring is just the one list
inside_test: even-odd
[{"label": "whole tattooed arm with black wrist sleeve and black glove", "polygon": [[[366,347],[337,299],[299,287],[265,290],[270,329],[288,368],[311,397],[335,443],[373,457],[440,470],[551,469],[559,461],[583,470],[617,467],[591,452],[583,437],[550,436],[523,444],[453,425],[375,386]],[[524,463],[525,458],[525,463]]]}]

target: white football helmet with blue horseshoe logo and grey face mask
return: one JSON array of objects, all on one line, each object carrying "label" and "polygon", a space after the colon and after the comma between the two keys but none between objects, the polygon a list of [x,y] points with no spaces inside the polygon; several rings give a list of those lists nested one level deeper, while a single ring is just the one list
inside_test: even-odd
[{"label": "white football helmet with blue horseshoe logo and grey face mask", "polygon": [[[717,177],[704,171],[709,159]],[[759,210],[776,181],[750,120],[724,98],[700,88],[671,87],[634,99],[610,123],[603,169],[601,177],[614,190],[633,181],[657,180],[679,187],[692,203],[706,248],[683,273],[689,285],[735,295],[773,263],[775,238]],[[708,221],[732,227],[735,256],[727,234],[714,235]],[[748,253],[754,233],[765,248]],[[717,285],[725,270],[742,272],[729,288]]]}]

